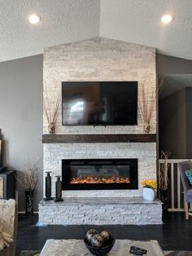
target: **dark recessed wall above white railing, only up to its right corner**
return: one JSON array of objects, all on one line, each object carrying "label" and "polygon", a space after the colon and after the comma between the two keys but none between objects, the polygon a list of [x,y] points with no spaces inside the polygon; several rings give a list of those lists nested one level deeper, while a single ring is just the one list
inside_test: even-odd
[{"label": "dark recessed wall above white railing, only up to its right corner", "polygon": [[159,101],[159,149],[172,152],[170,158],[186,157],[185,88]]}]

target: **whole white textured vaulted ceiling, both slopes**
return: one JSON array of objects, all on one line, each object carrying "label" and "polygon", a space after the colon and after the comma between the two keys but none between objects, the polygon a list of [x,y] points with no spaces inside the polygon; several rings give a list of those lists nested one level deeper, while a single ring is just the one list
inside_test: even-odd
[{"label": "whole white textured vaulted ceiling, both slopes", "polygon": [[[28,24],[32,13],[42,17],[38,26]],[[175,19],[163,25],[167,13]],[[191,14],[191,0],[1,0],[0,61],[98,36],[192,60]]]}]

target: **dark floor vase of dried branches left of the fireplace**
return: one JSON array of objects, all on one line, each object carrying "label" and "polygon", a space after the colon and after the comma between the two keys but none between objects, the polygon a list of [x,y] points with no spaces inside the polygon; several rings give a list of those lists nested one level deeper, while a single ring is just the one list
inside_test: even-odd
[{"label": "dark floor vase of dried branches left of the fireplace", "polygon": [[39,169],[34,166],[26,166],[24,177],[22,179],[16,177],[16,179],[20,182],[25,191],[25,215],[33,215],[33,193],[39,180]]}]

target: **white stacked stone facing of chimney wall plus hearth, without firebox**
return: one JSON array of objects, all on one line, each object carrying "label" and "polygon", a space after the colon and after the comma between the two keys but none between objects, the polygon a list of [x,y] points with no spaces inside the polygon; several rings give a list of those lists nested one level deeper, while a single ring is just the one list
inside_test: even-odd
[{"label": "white stacked stone facing of chimney wall plus hearth, without firebox", "polygon": [[[138,111],[137,126],[62,126],[62,106],[55,134],[142,134],[144,133],[140,106],[142,105],[142,85],[147,104],[154,105],[151,116],[151,134],[156,133],[155,95],[155,48],[120,42],[107,38],[93,38],[72,42],[46,49],[43,64],[44,96],[49,99],[50,109],[55,107],[58,93],[61,94],[62,82],[88,81],[137,81]],[[153,100],[151,102],[151,100]],[[47,134],[45,112],[43,133]],[[41,202],[39,205],[40,223],[46,224],[154,224],[161,223],[161,205],[145,204],[141,201],[122,202],[112,205],[111,197],[134,198],[142,196],[142,180],[156,179],[156,143],[45,143],[45,172],[52,172],[52,196],[55,196],[55,175],[62,173],[62,159],[90,158],[137,158],[137,190],[102,191],[63,191],[64,202],[56,204]],[[45,179],[44,179],[45,180]],[[45,194],[45,183],[44,183]],[[105,204],[74,204],[69,198],[106,197]],[[140,198],[141,197],[137,197]],[[117,202],[119,200],[117,199]],[[94,213],[94,214],[90,214]],[[92,217],[91,217],[92,216]]]}]

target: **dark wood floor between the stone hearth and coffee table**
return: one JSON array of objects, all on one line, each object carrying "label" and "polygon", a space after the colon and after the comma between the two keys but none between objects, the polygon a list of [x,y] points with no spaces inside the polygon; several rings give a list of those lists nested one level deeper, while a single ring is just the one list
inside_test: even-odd
[{"label": "dark wood floor between the stone hearth and coffee table", "polygon": [[[26,218],[19,216],[17,254],[21,250],[41,251],[47,239],[83,239],[90,226],[48,226],[36,227],[37,215]],[[93,226],[91,226],[93,227]],[[116,239],[159,241],[165,250],[192,250],[192,218],[186,221],[183,213],[168,214],[168,223],[147,226],[95,226],[98,230],[107,229]]]}]

